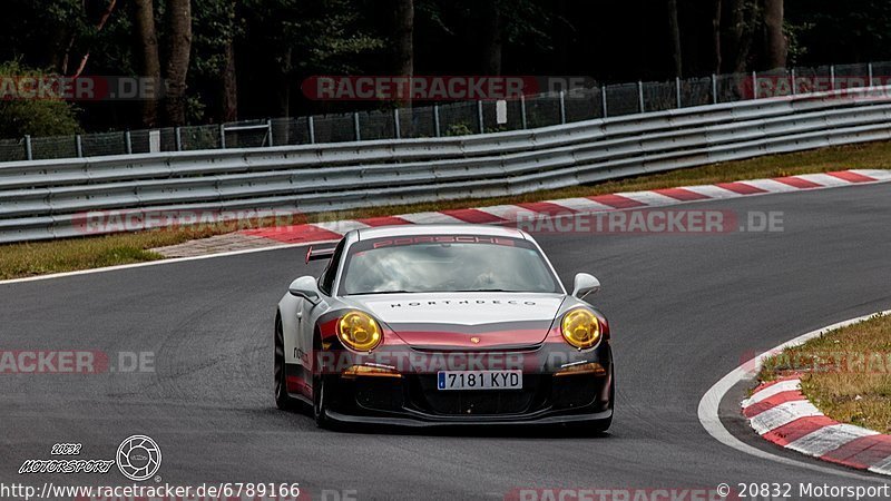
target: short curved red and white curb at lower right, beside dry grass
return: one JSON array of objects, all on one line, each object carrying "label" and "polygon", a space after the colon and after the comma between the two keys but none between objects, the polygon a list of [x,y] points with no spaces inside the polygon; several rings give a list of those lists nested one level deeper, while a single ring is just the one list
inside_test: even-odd
[{"label": "short curved red and white curb at lower right, beside dry grass", "polygon": [[742,402],[748,424],[782,448],[891,475],[891,435],[833,421],[801,392],[797,375],[764,383]]}]

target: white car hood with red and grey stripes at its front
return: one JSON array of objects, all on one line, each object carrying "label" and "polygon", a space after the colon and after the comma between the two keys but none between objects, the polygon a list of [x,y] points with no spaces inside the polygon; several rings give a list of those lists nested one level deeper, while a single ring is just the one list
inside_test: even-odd
[{"label": "white car hood with red and grey stripes at its front", "polygon": [[564,294],[430,293],[342,299],[417,348],[510,348],[545,341]]}]

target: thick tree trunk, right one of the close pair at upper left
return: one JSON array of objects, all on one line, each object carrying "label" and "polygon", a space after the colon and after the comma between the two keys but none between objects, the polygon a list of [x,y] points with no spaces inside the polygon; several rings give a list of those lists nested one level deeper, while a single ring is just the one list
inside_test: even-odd
[{"label": "thick tree trunk, right one of the close pair at upper left", "polygon": [[167,61],[167,122],[186,122],[186,76],[192,53],[192,0],[169,0],[170,57]]}]

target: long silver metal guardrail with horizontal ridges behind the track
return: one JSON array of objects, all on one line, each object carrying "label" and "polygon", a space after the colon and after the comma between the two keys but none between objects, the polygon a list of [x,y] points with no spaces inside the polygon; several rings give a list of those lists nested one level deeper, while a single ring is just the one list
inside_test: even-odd
[{"label": "long silver metal guardrail with horizontal ridges behind the track", "polygon": [[0,242],[85,234],[90,212],[288,209],[491,197],[891,139],[891,86],[509,132],[0,165]]}]

